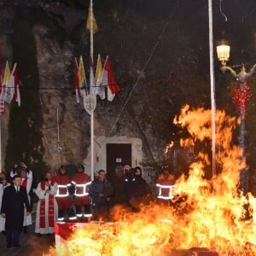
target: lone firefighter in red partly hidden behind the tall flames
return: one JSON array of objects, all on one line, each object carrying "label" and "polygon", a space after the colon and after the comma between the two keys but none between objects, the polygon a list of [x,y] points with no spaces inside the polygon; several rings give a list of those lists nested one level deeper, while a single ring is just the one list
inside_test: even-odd
[{"label": "lone firefighter in red partly hidden behind the tall flames", "polygon": [[175,176],[169,172],[169,167],[163,167],[163,173],[160,174],[156,182],[157,197],[163,201],[170,201],[173,198],[172,189],[175,185]]}]

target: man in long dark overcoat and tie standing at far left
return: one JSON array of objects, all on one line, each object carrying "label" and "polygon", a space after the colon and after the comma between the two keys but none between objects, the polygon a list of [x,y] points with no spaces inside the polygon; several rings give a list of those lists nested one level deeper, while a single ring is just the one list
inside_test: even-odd
[{"label": "man in long dark overcoat and tie standing at far left", "polygon": [[30,212],[30,205],[26,189],[20,186],[21,177],[15,175],[11,186],[4,189],[1,214],[6,218],[5,230],[7,247],[20,247],[19,239],[23,228],[24,205],[26,214]]}]

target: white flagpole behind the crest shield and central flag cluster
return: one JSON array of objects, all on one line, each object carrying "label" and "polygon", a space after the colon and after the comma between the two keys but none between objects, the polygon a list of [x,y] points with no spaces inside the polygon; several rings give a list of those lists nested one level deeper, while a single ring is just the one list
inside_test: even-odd
[{"label": "white flagpole behind the crest shield and central flag cluster", "polygon": [[[90,0],[90,90],[93,88],[93,5]],[[90,178],[94,179],[94,112],[90,114]]]}]

